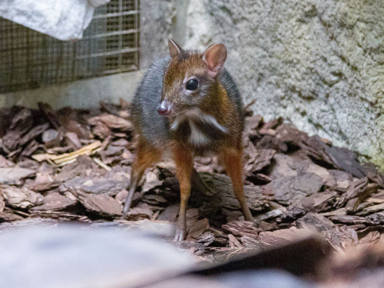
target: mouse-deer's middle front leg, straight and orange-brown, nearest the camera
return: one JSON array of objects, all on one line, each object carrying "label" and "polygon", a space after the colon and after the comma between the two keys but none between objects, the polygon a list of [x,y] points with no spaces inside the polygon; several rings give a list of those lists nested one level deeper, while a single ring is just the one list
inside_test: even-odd
[{"label": "mouse-deer's middle front leg, straight and orange-brown, nearest the camera", "polygon": [[191,191],[191,175],[193,170],[193,154],[182,145],[175,145],[173,158],[176,163],[176,177],[180,185],[180,211],[174,241],[185,240],[187,236],[186,213]]}]

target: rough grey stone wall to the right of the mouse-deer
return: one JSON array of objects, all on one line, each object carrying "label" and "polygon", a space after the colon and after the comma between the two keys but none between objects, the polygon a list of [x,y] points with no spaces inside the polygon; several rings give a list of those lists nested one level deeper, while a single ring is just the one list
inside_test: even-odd
[{"label": "rough grey stone wall to the right of the mouse-deer", "polygon": [[190,0],[186,47],[223,42],[245,102],[384,166],[382,0]]}]

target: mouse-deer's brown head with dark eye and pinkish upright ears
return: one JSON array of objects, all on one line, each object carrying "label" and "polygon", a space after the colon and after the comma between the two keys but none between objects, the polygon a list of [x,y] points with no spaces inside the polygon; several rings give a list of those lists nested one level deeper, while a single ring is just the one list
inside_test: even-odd
[{"label": "mouse-deer's brown head with dark eye and pinkish upright ears", "polygon": [[204,53],[184,51],[172,39],[168,47],[171,59],[164,74],[157,111],[171,116],[199,107],[207,97],[213,96],[212,87],[227,58],[227,48],[217,43]]}]

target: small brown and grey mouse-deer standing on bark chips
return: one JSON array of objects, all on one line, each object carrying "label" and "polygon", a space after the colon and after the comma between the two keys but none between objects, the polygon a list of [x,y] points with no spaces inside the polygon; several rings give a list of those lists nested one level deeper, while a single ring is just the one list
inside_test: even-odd
[{"label": "small brown and grey mouse-deer standing on bark chips", "polygon": [[124,213],[144,170],[170,155],[180,184],[175,236],[175,241],[180,241],[186,236],[192,177],[198,175],[195,155],[218,155],[232,178],[245,220],[253,221],[253,217],[243,192],[243,104],[235,82],[223,68],[227,48],[217,43],[199,53],[182,50],[171,39],[168,46],[170,57],[149,68],[132,103],[138,144]]}]

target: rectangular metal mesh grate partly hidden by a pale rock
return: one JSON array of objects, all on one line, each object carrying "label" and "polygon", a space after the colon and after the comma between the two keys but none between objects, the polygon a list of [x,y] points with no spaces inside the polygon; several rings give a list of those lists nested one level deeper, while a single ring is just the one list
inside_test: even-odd
[{"label": "rectangular metal mesh grate partly hidden by a pale rock", "polygon": [[139,0],[96,8],[83,39],[62,42],[0,18],[0,92],[139,68]]}]

